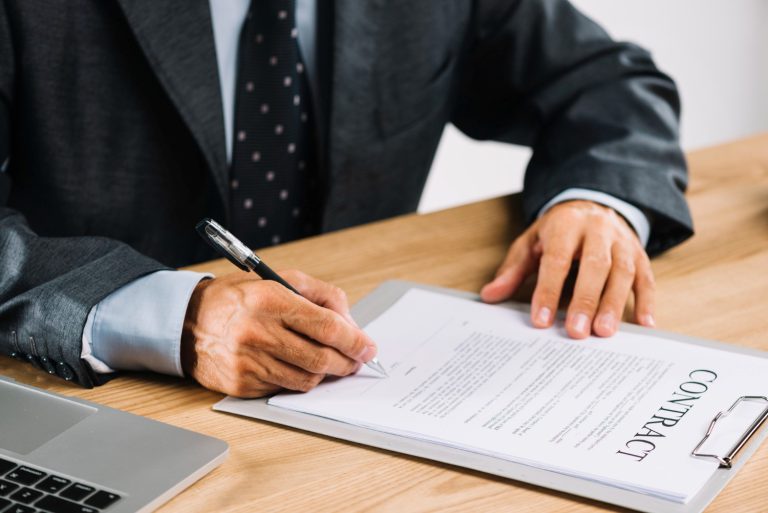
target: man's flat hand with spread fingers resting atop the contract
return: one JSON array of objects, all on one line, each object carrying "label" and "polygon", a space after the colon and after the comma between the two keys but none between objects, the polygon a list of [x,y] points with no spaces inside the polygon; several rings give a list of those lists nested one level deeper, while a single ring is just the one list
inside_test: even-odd
[{"label": "man's flat hand with spread fingers resting atop the contract", "polygon": [[538,271],[531,322],[547,328],[555,320],[565,280],[577,260],[579,271],[565,321],[569,336],[613,335],[631,291],[635,322],[655,325],[655,285],[648,255],[623,217],[591,201],[563,202],[537,219],[514,241],[481,296],[489,303],[503,301]]}]

